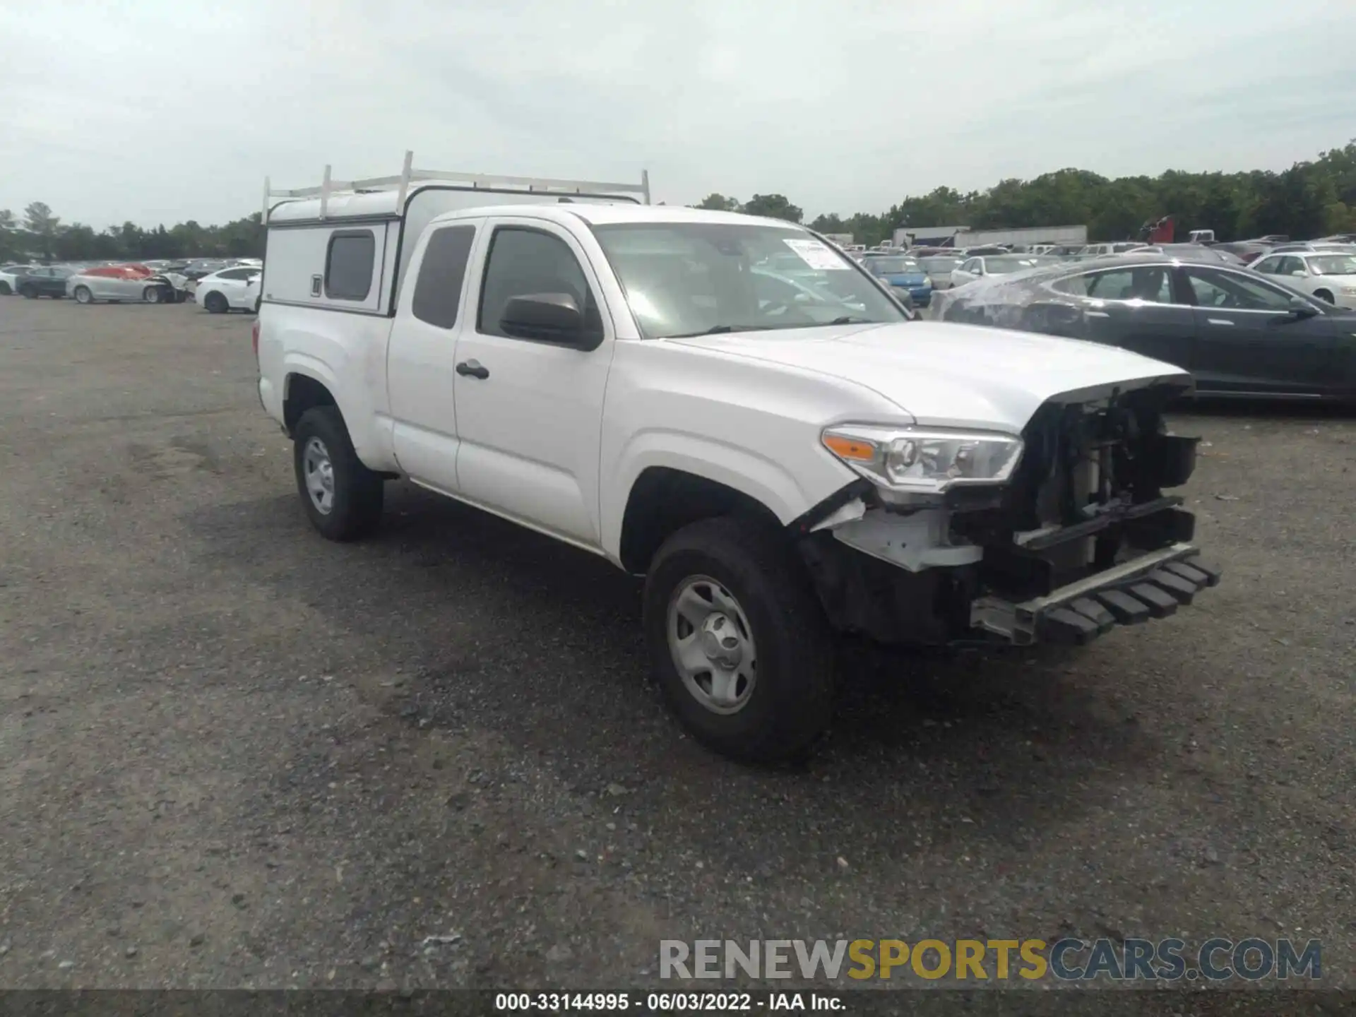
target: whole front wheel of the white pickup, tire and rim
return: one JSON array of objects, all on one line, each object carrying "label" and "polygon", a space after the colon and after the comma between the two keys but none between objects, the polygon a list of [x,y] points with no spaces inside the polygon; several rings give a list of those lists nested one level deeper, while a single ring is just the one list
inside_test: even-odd
[{"label": "whole front wheel of the white pickup, tire and rim", "polygon": [[833,636],[772,526],[720,517],[673,534],[645,578],[644,626],[664,700],[716,751],[785,759],[829,727]]}]

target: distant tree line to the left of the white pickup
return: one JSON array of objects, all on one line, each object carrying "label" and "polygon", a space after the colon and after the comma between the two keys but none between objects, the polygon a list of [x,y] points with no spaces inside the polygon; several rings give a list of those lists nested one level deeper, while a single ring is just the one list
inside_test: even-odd
[{"label": "distant tree line to the left of the white pickup", "polygon": [[111,262],[155,258],[263,258],[264,229],[259,213],[224,226],[193,220],[170,229],[142,229],[136,222],[95,231],[83,222],[62,222],[35,201],[18,217],[0,209],[0,262],[37,258],[43,262]]}]

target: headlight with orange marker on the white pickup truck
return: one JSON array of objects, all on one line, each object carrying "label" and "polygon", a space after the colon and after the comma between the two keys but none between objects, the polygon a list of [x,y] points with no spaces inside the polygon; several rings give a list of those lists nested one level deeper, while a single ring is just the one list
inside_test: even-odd
[{"label": "headlight with orange marker on the white pickup truck", "polygon": [[1021,458],[1021,438],[984,431],[829,427],[824,447],[864,477],[896,491],[941,494],[965,484],[1001,484]]}]

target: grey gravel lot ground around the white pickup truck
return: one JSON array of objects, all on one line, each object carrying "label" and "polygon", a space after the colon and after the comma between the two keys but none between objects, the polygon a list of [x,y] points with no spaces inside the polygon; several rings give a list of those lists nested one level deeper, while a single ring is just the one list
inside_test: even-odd
[{"label": "grey gravel lot ground around the white pickup truck", "polygon": [[1349,416],[1177,422],[1196,606],[848,647],[823,751],[749,769],[603,563],[403,483],[316,536],[250,324],[0,298],[0,986],[640,986],[662,937],[843,934],[1319,937],[1351,983]]}]

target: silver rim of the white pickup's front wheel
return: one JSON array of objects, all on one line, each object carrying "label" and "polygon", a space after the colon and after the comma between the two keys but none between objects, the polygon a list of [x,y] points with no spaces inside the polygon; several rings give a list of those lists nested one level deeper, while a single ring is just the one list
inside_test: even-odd
[{"label": "silver rim of the white pickup's front wheel", "polygon": [[669,599],[669,652],[683,686],[712,713],[738,713],[758,682],[749,616],[711,576],[687,576]]}]

